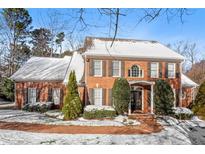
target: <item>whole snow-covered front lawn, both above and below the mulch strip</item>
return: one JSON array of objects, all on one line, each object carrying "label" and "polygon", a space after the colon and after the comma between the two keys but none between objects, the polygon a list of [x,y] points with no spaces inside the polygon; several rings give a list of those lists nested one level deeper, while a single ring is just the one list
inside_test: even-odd
[{"label": "whole snow-covered front lawn, both above and below the mulch strip", "polygon": [[[103,125],[122,124],[123,117],[115,121],[104,120]],[[118,120],[120,122],[118,122]],[[54,134],[54,133],[31,133],[15,130],[0,130],[0,144],[192,144],[190,133],[193,128],[205,128],[205,122],[194,117],[192,120],[179,121],[171,117],[157,119],[163,125],[164,130],[159,133],[139,135],[98,135],[98,134]],[[30,122],[42,124],[72,124],[49,118],[39,113],[29,113],[19,110],[0,110],[0,121]],[[78,120],[80,121],[80,120]],[[82,124],[75,123],[76,125]],[[100,125],[102,121],[97,120],[89,125]]]}]

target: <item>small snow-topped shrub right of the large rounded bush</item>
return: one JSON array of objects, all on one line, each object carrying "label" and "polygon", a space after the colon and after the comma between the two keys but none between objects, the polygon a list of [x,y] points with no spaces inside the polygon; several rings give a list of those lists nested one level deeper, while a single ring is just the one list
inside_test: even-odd
[{"label": "small snow-topped shrub right of the large rounded bush", "polygon": [[185,107],[175,107],[173,108],[174,115],[177,119],[186,120],[193,117],[193,112]]}]

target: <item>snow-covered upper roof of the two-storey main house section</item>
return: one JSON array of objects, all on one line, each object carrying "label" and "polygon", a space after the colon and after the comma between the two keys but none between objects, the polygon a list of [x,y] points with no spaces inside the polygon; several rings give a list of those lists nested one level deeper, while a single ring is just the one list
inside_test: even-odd
[{"label": "snow-covered upper roof of the two-storey main house section", "polygon": [[[83,55],[184,60],[185,58],[157,41],[87,37]],[[85,44],[86,44],[85,41]]]}]

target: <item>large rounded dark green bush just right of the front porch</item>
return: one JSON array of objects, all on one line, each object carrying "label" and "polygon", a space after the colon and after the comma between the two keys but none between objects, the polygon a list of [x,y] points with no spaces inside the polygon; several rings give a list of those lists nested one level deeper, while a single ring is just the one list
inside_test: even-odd
[{"label": "large rounded dark green bush just right of the front porch", "polygon": [[173,115],[174,93],[165,80],[157,80],[154,86],[155,113],[158,115]]}]

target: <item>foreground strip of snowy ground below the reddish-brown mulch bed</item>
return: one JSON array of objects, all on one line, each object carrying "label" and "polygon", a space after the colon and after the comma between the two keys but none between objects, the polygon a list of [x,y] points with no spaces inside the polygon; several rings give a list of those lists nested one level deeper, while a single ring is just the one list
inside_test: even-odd
[{"label": "foreground strip of snowy ground below the reddish-brown mulch bed", "polygon": [[168,128],[148,135],[47,134],[0,130],[0,144],[191,144],[181,134]]}]

